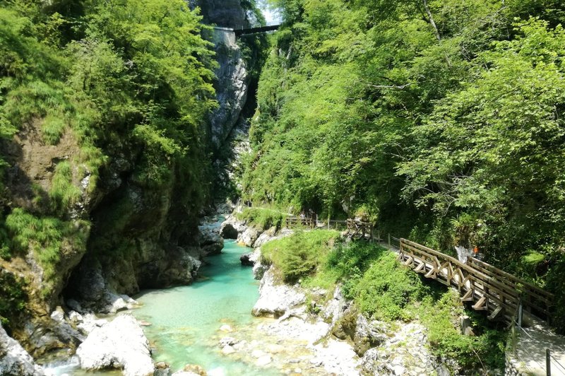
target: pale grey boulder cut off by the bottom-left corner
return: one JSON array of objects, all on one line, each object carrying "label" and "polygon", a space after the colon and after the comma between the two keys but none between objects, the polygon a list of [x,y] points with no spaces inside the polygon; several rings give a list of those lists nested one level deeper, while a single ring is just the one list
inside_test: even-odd
[{"label": "pale grey boulder cut off by the bottom-left corner", "polygon": [[0,325],[0,375],[42,376],[44,372],[33,358]]}]

